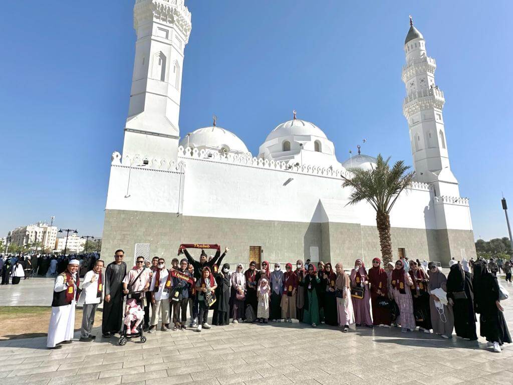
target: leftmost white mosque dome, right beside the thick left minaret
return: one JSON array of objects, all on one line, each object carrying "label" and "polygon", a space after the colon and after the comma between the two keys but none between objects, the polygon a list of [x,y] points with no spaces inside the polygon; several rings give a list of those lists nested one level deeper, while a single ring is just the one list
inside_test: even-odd
[{"label": "leftmost white mosque dome, right beside the thick left minaret", "polygon": [[192,131],[188,138],[187,136],[182,138],[180,145],[184,148],[189,146],[199,150],[205,148],[220,151],[226,148],[229,152],[233,153],[249,152],[244,142],[238,136],[217,126],[204,127]]}]

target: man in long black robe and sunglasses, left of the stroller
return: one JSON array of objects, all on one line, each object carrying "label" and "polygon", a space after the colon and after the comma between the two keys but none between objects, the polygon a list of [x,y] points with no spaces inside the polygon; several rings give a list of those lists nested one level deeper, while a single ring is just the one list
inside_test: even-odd
[{"label": "man in long black robe and sunglasses, left of the stroller", "polygon": [[127,265],[123,262],[125,252],[122,249],[114,253],[114,262],[105,269],[105,302],[103,304],[102,334],[109,338],[121,330],[123,319],[122,282],[127,274]]}]

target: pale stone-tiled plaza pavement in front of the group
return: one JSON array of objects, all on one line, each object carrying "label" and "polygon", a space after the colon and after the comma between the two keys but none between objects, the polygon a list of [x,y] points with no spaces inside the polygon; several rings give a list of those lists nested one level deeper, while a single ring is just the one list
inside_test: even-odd
[{"label": "pale stone-tiled plaza pavement in front of the group", "polygon": [[[39,281],[48,285],[45,279],[22,281],[16,290]],[[500,281],[513,295],[513,286]],[[5,302],[4,287],[1,292]],[[513,330],[513,300],[503,306]],[[492,353],[483,338],[470,342],[453,336],[447,341],[398,328],[342,333],[328,326],[270,322],[213,326],[201,333],[157,331],[146,334],[144,344],[129,341],[121,347],[117,338],[104,339],[100,329],[93,330],[94,342],[76,341],[60,350],[47,350],[45,337],[0,341],[0,384],[513,383],[513,344]]]}]

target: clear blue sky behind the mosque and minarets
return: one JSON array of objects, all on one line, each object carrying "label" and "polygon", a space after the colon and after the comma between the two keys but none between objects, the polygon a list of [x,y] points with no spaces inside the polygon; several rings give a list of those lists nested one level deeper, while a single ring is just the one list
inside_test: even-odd
[{"label": "clear blue sky behind the mosque and minarets", "polygon": [[[134,1],[2,4],[0,236],[55,215],[102,233],[110,156],[122,150]],[[339,161],[363,138],[369,155],[411,164],[401,67],[408,14],[445,92],[451,168],[470,198],[476,237],[507,235],[513,216],[510,1],[189,0],[181,135],[218,124],[253,155],[298,117],[333,141]],[[393,212],[392,212],[393,215]]]}]

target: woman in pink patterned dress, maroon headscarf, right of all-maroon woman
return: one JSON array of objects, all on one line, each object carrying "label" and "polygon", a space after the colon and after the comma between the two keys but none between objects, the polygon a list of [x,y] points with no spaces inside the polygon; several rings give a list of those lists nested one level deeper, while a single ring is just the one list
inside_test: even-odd
[{"label": "woman in pink patterned dress, maroon headscarf, right of all-maroon woman", "polygon": [[403,261],[399,259],[392,272],[392,290],[393,298],[399,306],[397,323],[401,325],[401,332],[411,332],[416,328],[410,291],[412,285],[413,281],[410,275],[404,271]]}]

